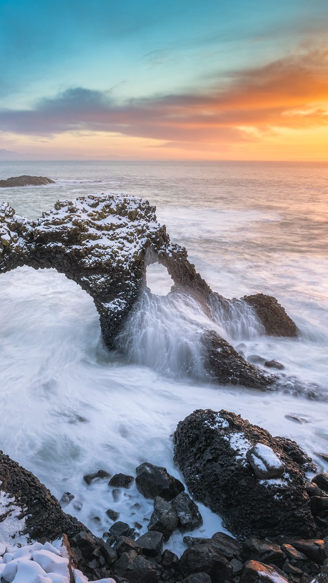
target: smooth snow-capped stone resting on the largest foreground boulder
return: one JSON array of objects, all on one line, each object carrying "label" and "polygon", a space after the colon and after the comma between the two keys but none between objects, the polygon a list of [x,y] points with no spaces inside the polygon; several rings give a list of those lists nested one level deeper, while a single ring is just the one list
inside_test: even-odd
[{"label": "smooth snow-capped stone resting on the largest foreground boulder", "polygon": [[271,447],[264,443],[257,443],[246,451],[246,459],[252,466],[257,477],[269,480],[271,477],[279,477],[285,471],[285,466],[274,453]]}]

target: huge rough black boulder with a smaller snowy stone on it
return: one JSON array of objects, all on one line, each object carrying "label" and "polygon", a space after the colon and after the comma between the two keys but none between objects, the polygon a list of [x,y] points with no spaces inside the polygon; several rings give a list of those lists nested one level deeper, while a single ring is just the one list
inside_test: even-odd
[{"label": "huge rough black boulder with a smaller snowy stone on it", "polygon": [[[236,536],[316,536],[304,488],[310,459],[294,442],[274,438],[225,410],[195,411],[178,424],[174,442],[175,461],[189,490],[221,515]],[[246,451],[257,443],[273,449],[284,464],[280,478],[260,480],[254,475]]]}]

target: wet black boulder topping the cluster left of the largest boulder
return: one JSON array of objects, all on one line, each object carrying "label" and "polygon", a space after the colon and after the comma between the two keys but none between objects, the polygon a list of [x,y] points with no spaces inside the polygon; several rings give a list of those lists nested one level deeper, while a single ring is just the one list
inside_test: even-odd
[{"label": "wet black boulder topping the cluster left of the largest boulder", "polygon": [[138,466],[136,471],[135,484],[145,498],[160,496],[169,501],[184,490],[182,482],[170,476],[166,468],[145,462]]}]

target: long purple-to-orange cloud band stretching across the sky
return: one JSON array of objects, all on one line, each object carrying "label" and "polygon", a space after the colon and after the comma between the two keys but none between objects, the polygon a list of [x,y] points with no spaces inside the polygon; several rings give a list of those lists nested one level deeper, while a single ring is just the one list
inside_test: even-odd
[{"label": "long purple-to-orange cloud band stretching across the sky", "polygon": [[159,139],[169,147],[254,141],[278,129],[326,125],[327,68],[328,51],[303,49],[261,68],[232,72],[206,93],[117,104],[110,92],[76,87],[39,101],[33,110],[0,110],[0,126],[34,136],[114,132]]}]

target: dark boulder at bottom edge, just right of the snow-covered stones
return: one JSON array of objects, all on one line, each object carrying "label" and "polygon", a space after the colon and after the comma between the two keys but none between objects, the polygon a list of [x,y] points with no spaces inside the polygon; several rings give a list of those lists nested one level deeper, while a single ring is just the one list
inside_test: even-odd
[{"label": "dark boulder at bottom edge, just right of the snow-covered stones", "polygon": [[123,553],[114,564],[114,573],[127,578],[130,583],[157,583],[158,574],[155,566],[137,554],[134,550]]}]

